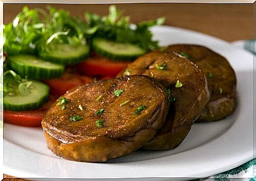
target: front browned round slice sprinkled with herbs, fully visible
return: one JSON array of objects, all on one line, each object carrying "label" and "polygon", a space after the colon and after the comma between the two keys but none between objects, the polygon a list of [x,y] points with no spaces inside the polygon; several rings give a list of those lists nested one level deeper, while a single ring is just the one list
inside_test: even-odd
[{"label": "front browned round slice sprinkled with herbs, fully visible", "polygon": [[142,75],[81,85],[60,100],[42,128],[53,153],[75,161],[130,154],[154,138],[169,110],[163,85]]}]

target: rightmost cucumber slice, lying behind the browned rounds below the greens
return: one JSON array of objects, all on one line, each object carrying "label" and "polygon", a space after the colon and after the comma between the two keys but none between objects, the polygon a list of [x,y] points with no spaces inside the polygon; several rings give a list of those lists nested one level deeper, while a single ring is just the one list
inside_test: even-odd
[{"label": "rightmost cucumber slice, lying behind the browned rounds below the greens", "polygon": [[112,60],[134,60],[146,53],[146,50],[130,43],[119,43],[102,38],[92,40],[93,50]]}]

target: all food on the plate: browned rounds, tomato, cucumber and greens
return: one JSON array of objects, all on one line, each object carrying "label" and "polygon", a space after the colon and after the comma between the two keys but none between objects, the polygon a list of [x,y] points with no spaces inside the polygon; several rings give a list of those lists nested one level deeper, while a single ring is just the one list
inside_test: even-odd
[{"label": "all food on the plate: browned rounds, tomato, cucumber and greens", "polygon": [[236,75],[196,44],[159,46],[150,27],[109,14],[24,7],[4,25],[4,122],[42,127],[64,159],[105,162],[179,146],[194,122],[236,108]]}]

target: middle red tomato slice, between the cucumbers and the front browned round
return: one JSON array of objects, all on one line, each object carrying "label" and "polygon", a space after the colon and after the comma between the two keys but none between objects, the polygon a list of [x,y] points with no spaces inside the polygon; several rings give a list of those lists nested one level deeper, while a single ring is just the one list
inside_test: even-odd
[{"label": "middle red tomato slice, between the cucumbers and the front browned round", "polygon": [[65,71],[60,78],[49,79],[44,81],[50,86],[52,94],[61,96],[67,90],[84,83],[91,83],[93,79],[88,76],[79,75],[72,69]]}]

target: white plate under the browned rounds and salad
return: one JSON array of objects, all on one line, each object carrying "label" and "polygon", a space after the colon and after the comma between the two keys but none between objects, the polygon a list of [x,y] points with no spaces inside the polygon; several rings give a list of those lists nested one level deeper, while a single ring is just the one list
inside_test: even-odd
[{"label": "white plate under the browned rounds and salad", "polygon": [[4,173],[34,178],[207,177],[251,160],[252,55],[215,37],[182,28],[160,26],[152,30],[160,45],[204,45],[230,61],[238,79],[238,107],[232,116],[195,123],[173,150],[140,150],[104,164],[59,158],[47,149],[40,128],[5,124]]}]

